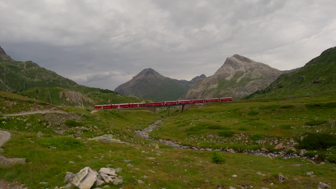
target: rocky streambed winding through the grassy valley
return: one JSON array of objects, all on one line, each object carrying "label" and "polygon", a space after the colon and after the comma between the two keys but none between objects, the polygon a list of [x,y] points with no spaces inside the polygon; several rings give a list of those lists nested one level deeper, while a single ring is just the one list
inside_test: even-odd
[{"label": "rocky streambed winding through the grassy valley", "polygon": [[[155,142],[159,142],[162,144],[166,144],[169,146],[172,146],[174,148],[177,149],[188,149],[188,150],[199,150],[199,151],[219,151],[219,152],[231,152],[231,153],[244,153],[244,154],[252,154],[252,155],[260,155],[260,156],[266,156],[266,157],[270,157],[270,158],[276,158],[278,156],[285,158],[285,159],[289,159],[289,158],[302,158],[302,159],[307,159],[308,161],[310,161],[313,164],[324,164],[325,161],[323,158],[321,157],[305,157],[303,156],[305,150],[301,150],[299,155],[297,155],[296,153],[290,153],[287,154],[286,152],[271,152],[269,150],[267,150],[266,148],[261,148],[260,150],[234,150],[232,148],[225,148],[225,149],[212,149],[212,148],[200,148],[200,147],[190,147],[190,146],[182,146],[180,144],[178,144],[178,142],[173,141],[173,140],[165,140],[165,139],[153,139],[149,136],[149,133],[152,132],[154,129],[156,129],[158,126],[157,124],[161,123],[162,120],[157,120],[156,122],[154,122],[153,124],[149,125],[149,127],[144,128],[142,130],[137,130],[134,132],[134,134],[138,137],[141,137],[143,139],[146,140],[150,140],[150,141],[155,141]],[[295,166],[295,165],[293,165]]]}]

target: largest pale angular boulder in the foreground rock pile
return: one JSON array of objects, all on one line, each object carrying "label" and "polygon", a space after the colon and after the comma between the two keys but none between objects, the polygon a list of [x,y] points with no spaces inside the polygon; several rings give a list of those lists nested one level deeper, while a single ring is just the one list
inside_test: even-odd
[{"label": "largest pale angular boulder in the foreground rock pile", "polygon": [[90,167],[83,168],[76,174],[72,184],[80,189],[90,189],[96,182],[97,176]]}]

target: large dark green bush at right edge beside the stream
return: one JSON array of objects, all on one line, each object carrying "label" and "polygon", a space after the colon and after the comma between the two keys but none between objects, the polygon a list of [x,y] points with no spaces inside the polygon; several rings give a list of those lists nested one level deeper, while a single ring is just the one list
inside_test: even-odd
[{"label": "large dark green bush at right edge beside the stream", "polygon": [[308,133],[302,141],[299,142],[298,148],[307,150],[326,149],[336,145],[336,136],[327,133]]}]

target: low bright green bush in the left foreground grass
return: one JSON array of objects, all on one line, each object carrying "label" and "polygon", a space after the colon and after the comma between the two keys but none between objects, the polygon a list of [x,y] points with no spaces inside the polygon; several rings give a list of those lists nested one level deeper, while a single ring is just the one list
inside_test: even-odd
[{"label": "low bright green bush in the left foreground grass", "polygon": [[70,150],[83,145],[80,140],[71,137],[43,138],[39,139],[38,143],[47,148],[50,146],[56,147],[57,150]]}]

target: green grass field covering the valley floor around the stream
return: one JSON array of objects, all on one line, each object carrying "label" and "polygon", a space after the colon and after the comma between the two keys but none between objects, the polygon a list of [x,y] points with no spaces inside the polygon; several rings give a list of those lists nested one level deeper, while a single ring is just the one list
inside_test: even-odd
[{"label": "green grass field covering the valley floor around the stream", "polygon": [[[6,94],[2,95],[9,98]],[[11,96],[10,101],[30,100],[25,98],[15,100],[15,97]],[[269,102],[254,100],[214,103],[200,108],[193,107],[184,113],[177,109],[171,110],[170,118],[167,118],[167,110],[159,113],[150,112],[145,108],[99,110],[91,114],[89,109],[67,106],[61,107],[66,112],[64,114],[15,116],[14,119],[4,120],[5,124],[0,122],[0,129],[8,130],[12,134],[11,139],[2,146],[4,150],[1,154],[24,157],[28,163],[8,168],[0,167],[0,178],[17,181],[30,189],[54,188],[65,185],[63,179],[68,171],[77,173],[86,166],[98,171],[100,167],[111,164],[109,166],[112,168],[123,169],[118,175],[123,176],[124,182],[118,186],[111,185],[110,188],[213,189],[218,186],[239,188],[239,186],[250,187],[249,185],[253,188],[270,189],[317,188],[319,182],[330,183],[333,188],[336,184],[336,167],[332,163],[314,165],[300,158],[271,159],[242,153],[220,153],[225,162],[215,164],[211,162],[212,152],[173,149],[167,145],[138,138],[133,134],[135,130],[163,119],[158,129],[151,133],[155,138],[172,139],[186,145],[260,148],[262,145],[254,145],[252,142],[260,137],[279,141],[282,138],[297,140],[307,132],[307,129],[311,132],[319,129],[322,133],[334,134],[335,130],[331,130],[329,123],[335,120],[333,101],[335,96],[328,95],[269,100]],[[25,106],[32,105],[28,103]],[[250,113],[253,111],[257,114]],[[3,110],[2,113],[7,112]],[[67,120],[76,122],[72,121],[73,124],[69,124],[68,121],[66,124]],[[316,128],[302,128],[307,122],[315,120],[319,120],[315,123],[321,123]],[[27,127],[27,123],[31,123],[32,126]],[[78,130],[74,127],[76,124],[88,129]],[[275,127],[272,127],[273,125]],[[38,133],[39,131],[42,134]],[[246,134],[244,138],[248,138],[250,142],[245,145],[236,143],[238,139],[234,139],[235,137],[217,137],[219,132],[226,136],[227,131],[239,135]],[[116,139],[128,142],[130,145],[87,141],[88,138],[103,134],[112,134]],[[84,140],[65,137],[67,135],[80,136]],[[204,139],[212,135],[215,138],[200,140],[202,137]],[[160,149],[154,148],[157,144]],[[49,145],[55,146],[56,149],[50,149]],[[334,149],[330,150],[333,154]],[[317,153],[323,156],[326,150]],[[151,160],[147,157],[156,159]],[[126,166],[128,163],[124,162],[125,159],[130,159],[133,167]],[[68,163],[69,161],[74,161],[75,164]],[[291,165],[293,163],[302,166],[296,167]],[[316,177],[306,175],[305,172],[308,171],[314,172]],[[257,172],[261,172],[264,176]],[[278,182],[279,173],[286,177],[283,183]],[[135,179],[143,180],[144,184],[137,183]],[[39,184],[44,181],[49,184]]]}]

